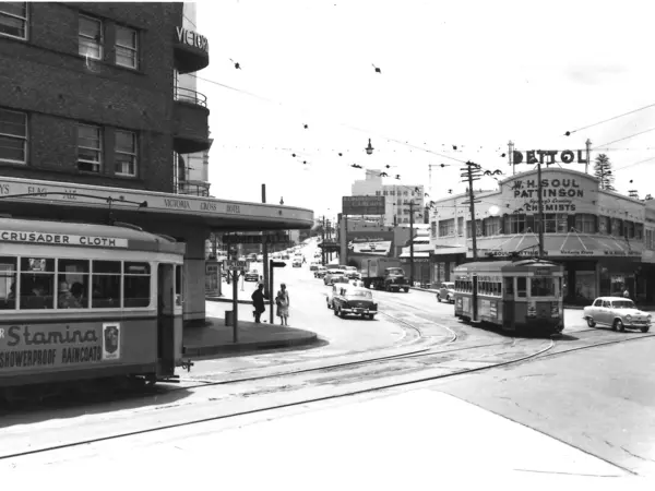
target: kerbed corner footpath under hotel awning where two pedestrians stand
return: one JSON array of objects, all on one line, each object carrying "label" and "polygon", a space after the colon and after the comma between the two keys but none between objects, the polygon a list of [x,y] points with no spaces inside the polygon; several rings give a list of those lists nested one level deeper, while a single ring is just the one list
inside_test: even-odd
[{"label": "kerbed corner footpath under hotel awning where two pedestrians stand", "polygon": [[[234,337],[234,326],[228,325],[233,318],[233,288],[223,284],[223,296],[206,296],[207,315],[202,324],[184,325],[183,355],[189,358],[206,358],[242,355],[249,351],[282,349],[291,347],[309,347],[320,344],[321,339],[311,331],[285,327],[279,325],[279,318],[270,321],[270,306],[266,301],[266,312],[262,322],[255,323],[252,315],[250,296],[257,283],[247,283],[237,291],[238,319],[237,339]],[[275,306],[273,306],[275,309]],[[275,313],[275,312],[274,312]],[[276,324],[277,323],[277,324]]]}]

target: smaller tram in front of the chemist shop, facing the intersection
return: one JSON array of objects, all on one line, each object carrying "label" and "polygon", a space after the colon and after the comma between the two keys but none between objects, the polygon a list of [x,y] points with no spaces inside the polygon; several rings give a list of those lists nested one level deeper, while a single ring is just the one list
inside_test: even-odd
[{"label": "smaller tram in front of the chemist shop, facing the intersection", "polygon": [[521,334],[564,328],[562,265],[534,259],[455,267],[455,316]]}]

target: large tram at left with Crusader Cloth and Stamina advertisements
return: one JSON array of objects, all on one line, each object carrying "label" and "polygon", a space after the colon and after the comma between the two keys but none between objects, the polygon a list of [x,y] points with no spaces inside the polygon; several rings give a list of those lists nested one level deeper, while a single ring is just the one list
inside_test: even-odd
[{"label": "large tram at left with Crusader Cloth and Stamina advertisements", "polygon": [[175,381],[186,246],[116,223],[0,218],[0,391]]}]

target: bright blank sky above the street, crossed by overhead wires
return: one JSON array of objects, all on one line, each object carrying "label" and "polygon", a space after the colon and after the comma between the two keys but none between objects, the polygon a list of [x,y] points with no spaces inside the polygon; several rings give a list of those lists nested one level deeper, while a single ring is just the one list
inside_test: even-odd
[{"label": "bright blank sky above the street, crossed by overhead wires", "polygon": [[587,139],[619,192],[654,193],[655,107],[602,122],[655,104],[652,12],[629,0],[198,2],[211,193],[260,202],[265,183],[269,203],[336,216],[366,168],[431,184],[433,200],[465,190],[467,160],[511,176],[509,141],[563,151]]}]

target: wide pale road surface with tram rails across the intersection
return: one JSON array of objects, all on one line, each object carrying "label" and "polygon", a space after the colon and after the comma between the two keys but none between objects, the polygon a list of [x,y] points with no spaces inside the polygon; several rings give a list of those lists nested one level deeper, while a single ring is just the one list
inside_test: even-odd
[{"label": "wide pale road surface with tram rails across the intersection", "polygon": [[332,489],[344,472],[367,488],[655,477],[652,333],[590,330],[573,310],[562,339],[513,338],[418,290],[374,292],[379,320],[342,320],[307,266],[276,274],[294,322],[329,345],[201,361],[155,394],[4,415],[0,468],[124,472],[175,459],[205,478],[221,463],[227,482],[271,488],[266,476],[286,469]]}]

